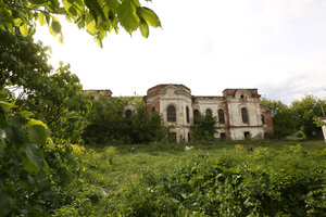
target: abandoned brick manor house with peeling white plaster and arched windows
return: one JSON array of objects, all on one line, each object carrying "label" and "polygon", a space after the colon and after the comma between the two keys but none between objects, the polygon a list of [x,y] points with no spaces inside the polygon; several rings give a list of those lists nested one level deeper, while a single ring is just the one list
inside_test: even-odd
[{"label": "abandoned brick manor house with peeling white plaster and arched windows", "polygon": [[[112,98],[111,90],[102,92]],[[166,127],[170,141],[189,142],[193,117],[210,113],[216,116],[215,138],[243,140],[247,137],[267,139],[274,132],[271,108],[260,104],[258,89],[225,89],[223,95],[192,95],[184,85],[158,85],[148,89],[143,97],[151,112],[158,112]],[[125,114],[131,113],[128,106]]]}]

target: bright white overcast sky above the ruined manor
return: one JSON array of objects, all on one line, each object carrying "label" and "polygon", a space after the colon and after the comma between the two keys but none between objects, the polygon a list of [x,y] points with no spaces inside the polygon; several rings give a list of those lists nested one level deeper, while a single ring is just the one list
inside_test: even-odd
[{"label": "bright white overcast sky above the ruined manor", "polygon": [[48,27],[37,38],[52,47],[50,63],[71,64],[84,89],[146,94],[159,84],[184,84],[193,95],[258,88],[290,103],[304,93],[326,97],[325,0],[152,0],[162,28],[145,39],[121,28],[103,49],[64,21],[64,46]]}]

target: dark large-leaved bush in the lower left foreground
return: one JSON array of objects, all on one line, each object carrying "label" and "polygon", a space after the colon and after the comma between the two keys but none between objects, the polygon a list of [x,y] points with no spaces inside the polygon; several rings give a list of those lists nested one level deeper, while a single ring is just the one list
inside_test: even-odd
[{"label": "dark large-leaved bush in the lower left foreground", "polygon": [[0,101],[0,216],[46,216],[68,203],[78,175],[72,149],[55,145],[47,126]]}]

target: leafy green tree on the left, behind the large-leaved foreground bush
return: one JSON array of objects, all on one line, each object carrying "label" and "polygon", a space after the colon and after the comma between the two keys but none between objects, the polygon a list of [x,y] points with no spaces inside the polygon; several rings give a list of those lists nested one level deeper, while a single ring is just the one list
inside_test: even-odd
[{"label": "leafy green tree on the left, behind the large-leaved foreground bush", "polygon": [[[53,72],[47,63],[49,48],[33,37],[0,30],[0,90],[20,90],[17,110],[33,111],[45,122],[54,141],[82,142],[84,115],[90,107],[82,94],[83,86],[70,65],[61,64]],[[5,94],[13,99],[14,97]]]}]

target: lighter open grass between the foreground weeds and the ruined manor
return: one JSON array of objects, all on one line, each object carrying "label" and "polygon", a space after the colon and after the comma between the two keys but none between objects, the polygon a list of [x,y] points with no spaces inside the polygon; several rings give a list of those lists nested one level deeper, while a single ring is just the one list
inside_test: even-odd
[{"label": "lighter open grass between the foreground weeds and the ruined manor", "polygon": [[[192,145],[193,149],[185,152],[185,146]],[[86,146],[87,153],[91,155],[89,173],[97,182],[112,188],[122,181],[138,179],[139,174],[145,170],[160,168],[166,173],[173,171],[183,165],[193,161],[206,161],[200,157],[201,154],[209,154],[208,159],[218,157],[231,157],[236,162],[239,158],[250,157],[252,155],[250,148],[267,148],[271,150],[281,150],[286,146],[301,145],[303,150],[314,151],[326,149],[322,140],[315,141],[221,141],[216,143],[176,143],[176,144],[133,144],[133,145],[97,145]],[[109,157],[103,156],[105,148],[113,146],[114,153],[109,153]],[[136,153],[130,152],[130,148],[136,149]],[[238,158],[238,159],[237,159]]]}]

